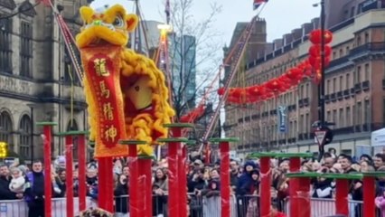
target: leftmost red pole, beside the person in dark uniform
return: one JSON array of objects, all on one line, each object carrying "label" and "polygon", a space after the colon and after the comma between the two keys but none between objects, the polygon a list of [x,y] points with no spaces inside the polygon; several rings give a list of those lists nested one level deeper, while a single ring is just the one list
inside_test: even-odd
[{"label": "leftmost red pole, beside the person in dark uniform", "polygon": [[51,140],[52,126],[44,125],[44,215],[52,216]]}]

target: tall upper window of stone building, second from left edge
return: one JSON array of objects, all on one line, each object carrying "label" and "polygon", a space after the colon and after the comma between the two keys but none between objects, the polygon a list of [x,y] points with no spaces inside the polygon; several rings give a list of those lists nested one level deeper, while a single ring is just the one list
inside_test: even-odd
[{"label": "tall upper window of stone building, second from left edge", "polygon": [[33,27],[32,24],[21,22],[20,31],[20,75],[32,78],[33,58]]}]

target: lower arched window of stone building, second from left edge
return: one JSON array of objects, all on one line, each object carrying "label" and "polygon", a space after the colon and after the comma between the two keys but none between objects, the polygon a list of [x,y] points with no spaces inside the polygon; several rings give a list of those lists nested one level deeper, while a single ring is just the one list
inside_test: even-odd
[{"label": "lower arched window of stone building, second from left edge", "polygon": [[27,159],[32,157],[31,147],[33,146],[33,138],[31,135],[31,127],[31,118],[23,115],[23,118],[20,120],[19,155]]}]

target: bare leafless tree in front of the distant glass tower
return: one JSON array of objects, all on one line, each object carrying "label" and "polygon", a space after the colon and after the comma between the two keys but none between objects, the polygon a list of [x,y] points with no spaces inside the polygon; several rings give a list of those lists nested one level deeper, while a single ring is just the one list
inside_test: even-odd
[{"label": "bare leafless tree in front of the distant glass tower", "polygon": [[203,95],[211,95],[205,88],[221,63],[221,33],[213,26],[215,15],[221,13],[221,5],[205,2],[211,11],[207,17],[197,21],[192,10],[193,2],[175,0],[171,5],[170,72],[178,119],[194,109],[195,102]]}]

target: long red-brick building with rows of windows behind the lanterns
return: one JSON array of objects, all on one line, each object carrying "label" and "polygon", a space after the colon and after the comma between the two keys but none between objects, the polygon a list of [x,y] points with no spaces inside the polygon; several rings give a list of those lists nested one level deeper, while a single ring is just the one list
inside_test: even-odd
[{"label": "long red-brick building with rows of windows behind the lanterns", "polygon": [[[329,4],[333,2],[339,1]],[[385,126],[385,24],[381,19],[385,9],[381,8],[381,1],[356,1],[358,5],[371,2],[377,5],[355,11],[329,28],[333,32],[333,52],[325,70],[325,118],[335,125],[331,127],[333,142],[325,148],[333,147],[337,153],[371,153],[371,131]],[[239,76],[246,80],[245,86],[275,78],[305,60],[311,45],[307,34],[318,25],[318,19],[314,19],[274,41],[272,52],[246,65]],[[317,95],[315,83],[304,80],[276,99],[250,106],[228,106],[226,136],[240,137],[238,149],[244,152],[317,153],[312,128],[318,119]],[[278,106],[286,107],[286,132],[278,130]]]}]

